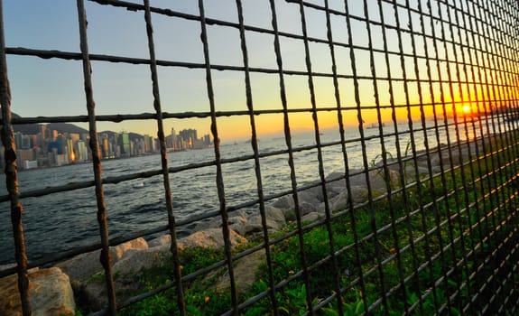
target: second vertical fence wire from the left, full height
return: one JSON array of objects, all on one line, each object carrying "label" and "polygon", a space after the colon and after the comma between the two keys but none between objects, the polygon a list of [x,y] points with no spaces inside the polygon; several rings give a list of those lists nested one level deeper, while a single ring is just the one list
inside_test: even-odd
[{"label": "second vertical fence wire from the left, full height", "polygon": [[105,194],[103,192],[103,176],[101,165],[101,153],[99,150],[99,142],[97,140],[96,126],[96,103],[94,101],[94,93],[92,88],[92,69],[88,56],[88,37],[87,37],[87,13],[83,0],[77,1],[78,18],[79,18],[79,40],[81,54],[83,57],[83,79],[85,88],[85,97],[87,99],[88,111],[88,132],[90,135],[90,150],[92,151],[92,165],[94,180],[96,182],[96,202],[97,202],[97,222],[99,225],[99,237],[101,238],[101,254],[100,261],[105,271],[105,280],[107,285],[107,309],[112,315],[117,313],[116,303],[116,287],[114,284],[114,274],[112,271],[112,257],[109,250],[108,224],[107,224],[107,206]]}]

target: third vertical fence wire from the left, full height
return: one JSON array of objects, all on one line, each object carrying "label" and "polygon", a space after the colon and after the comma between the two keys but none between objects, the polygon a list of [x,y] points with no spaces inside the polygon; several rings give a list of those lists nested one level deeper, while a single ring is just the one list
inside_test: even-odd
[{"label": "third vertical fence wire from the left, full height", "polygon": [[155,48],[153,43],[153,24],[152,14],[150,12],[150,1],[144,0],[144,19],[146,22],[146,34],[148,37],[148,49],[150,51],[150,70],[152,73],[153,84],[153,108],[157,114],[157,135],[159,136],[159,143],[161,146],[161,164],[162,164],[162,183],[164,186],[164,195],[166,201],[166,209],[168,211],[168,228],[171,235],[171,255],[173,259],[173,271],[175,275],[175,285],[177,293],[178,310],[181,315],[186,314],[186,304],[184,302],[184,291],[182,287],[181,275],[181,260],[179,258],[179,249],[177,243],[177,228],[175,223],[175,216],[173,214],[173,201],[171,196],[171,182],[170,173],[168,170],[168,152],[166,148],[166,141],[164,136],[164,126],[162,118],[161,95],[159,92],[159,79],[157,74],[157,62],[155,60]]}]

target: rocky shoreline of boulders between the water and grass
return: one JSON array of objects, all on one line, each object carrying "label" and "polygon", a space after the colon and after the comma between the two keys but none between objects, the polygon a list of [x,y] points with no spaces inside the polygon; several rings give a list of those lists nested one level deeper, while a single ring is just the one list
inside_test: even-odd
[{"label": "rocky shoreline of boulders between the water and grass", "polygon": [[[482,148],[481,140],[461,144],[459,147],[451,144],[451,150],[446,146],[433,149],[429,154],[417,153],[416,163],[409,160],[403,163],[405,181],[415,181],[418,177],[427,177],[429,173],[428,156],[431,162],[431,171],[440,172],[441,166],[448,168],[450,162],[455,165],[462,163],[468,157],[470,150],[475,155],[476,146]],[[481,150],[482,151],[482,150]],[[441,152],[440,155],[438,154]],[[449,155],[449,152],[451,153]],[[377,167],[382,162],[373,163],[373,170],[362,172],[360,170],[349,171],[351,198],[355,204],[367,200],[367,181],[375,196],[386,192],[387,184],[392,188],[400,185],[400,165],[394,159],[387,159],[389,181],[386,183],[384,170]],[[344,173],[334,172],[327,177],[327,198],[330,211],[345,209],[348,203],[348,191]],[[303,222],[315,222],[325,217],[325,203],[321,186],[316,186],[298,192],[299,210]],[[265,222],[269,232],[279,231],[287,223],[295,220],[294,201],[291,195],[283,196],[265,206]],[[262,218],[259,214],[249,215],[244,210],[236,210],[228,214],[230,228],[230,240],[232,246],[244,244],[247,238],[255,237],[263,232]],[[224,240],[220,218],[200,222],[188,237],[179,239],[179,248],[185,247],[222,247]],[[171,236],[164,235],[152,240],[143,237],[136,238],[118,246],[111,246],[113,271],[116,283],[116,296],[118,302],[125,302],[135,293],[135,284],[130,276],[142,269],[150,268],[161,263],[165,256],[170,254]],[[94,310],[106,306],[106,294],[104,294],[103,269],[99,263],[100,250],[75,256],[61,262],[51,268],[34,268],[29,272],[30,295],[32,311],[39,315],[66,315],[74,314],[76,303],[74,298],[81,297],[81,304],[86,303]],[[239,280],[241,290],[246,290],[246,284],[250,283],[251,269],[255,269],[263,260],[261,255],[246,256],[235,265],[235,277]],[[2,267],[0,267],[2,270]],[[243,273],[240,274],[239,271]],[[253,270],[254,271],[254,270]],[[16,285],[17,276],[12,274],[0,279],[0,314],[21,315],[21,302]],[[222,283],[225,283],[222,281]],[[228,283],[228,281],[227,281]]]}]

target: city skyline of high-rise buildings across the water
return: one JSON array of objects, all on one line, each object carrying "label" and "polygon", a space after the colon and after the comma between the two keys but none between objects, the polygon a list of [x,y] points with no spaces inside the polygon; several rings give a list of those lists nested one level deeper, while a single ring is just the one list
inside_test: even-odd
[{"label": "city skyline of high-rise buildings across the water", "polygon": [[[14,133],[16,144],[16,163],[20,170],[61,166],[70,163],[87,163],[92,160],[88,146],[90,136],[78,133],[59,133],[46,125],[40,125],[37,135]],[[103,132],[98,134],[102,159],[129,158],[160,152],[159,140],[150,135],[133,133]],[[210,136],[198,138],[197,130],[184,129],[166,137],[168,151],[207,148],[211,145]],[[0,167],[5,168],[4,147],[0,144]]]}]

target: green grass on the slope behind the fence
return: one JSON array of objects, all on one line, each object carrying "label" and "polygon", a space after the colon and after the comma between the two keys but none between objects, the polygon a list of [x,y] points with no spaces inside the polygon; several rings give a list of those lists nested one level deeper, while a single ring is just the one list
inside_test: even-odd
[{"label": "green grass on the slope behind the fence", "polygon": [[[340,310],[346,315],[359,315],[366,309],[374,315],[401,315],[405,311],[433,314],[439,310],[457,315],[482,308],[492,313],[505,303],[506,295],[514,295],[509,301],[514,303],[516,284],[505,280],[511,274],[515,280],[518,276],[513,269],[519,259],[514,252],[518,224],[518,200],[514,195],[519,186],[517,180],[509,181],[517,174],[517,148],[502,139],[493,139],[494,152],[487,158],[333,218],[330,228],[334,260],[327,226],[305,229],[302,239],[306,265],[314,267],[308,271],[307,280],[301,274],[297,234],[271,246],[273,282],[283,285],[275,291],[279,314],[306,312],[309,290],[312,305],[336,295],[321,304],[319,315],[338,315]],[[292,223],[272,237],[283,237],[296,229]],[[248,246],[260,244],[261,239]],[[240,246],[234,253],[244,249]],[[222,260],[225,256],[220,249],[184,249],[181,273],[189,275]],[[219,268],[222,273],[225,267]],[[266,263],[259,266],[254,277],[255,283],[239,295],[238,302],[266,294],[240,314],[271,314]],[[136,278],[143,292],[173,281],[171,262]],[[183,283],[189,315],[221,314],[232,309],[229,291],[218,290],[214,282],[214,277],[200,276]],[[496,291],[502,295],[487,302]],[[477,299],[472,302],[475,295]],[[175,287],[137,302],[121,314],[180,314]]]}]

